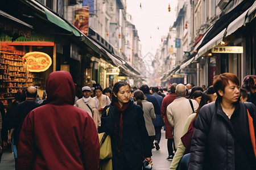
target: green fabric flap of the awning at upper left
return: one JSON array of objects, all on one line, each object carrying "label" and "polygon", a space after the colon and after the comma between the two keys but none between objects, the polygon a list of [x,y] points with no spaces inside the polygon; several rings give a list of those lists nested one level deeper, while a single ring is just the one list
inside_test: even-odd
[{"label": "green fabric flap of the awning at upper left", "polygon": [[65,22],[65,20],[61,19],[59,16],[53,14],[53,12],[49,11],[47,8],[43,8],[44,12],[46,12],[46,16],[47,16],[47,19],[58,25],[59,27],[63,28],[63,29],[66,29],[67,31],[69,32],[72,32],[75,36],[78,36],[80,37],[81,34],[79,31],[77,31],[76,28],[72,27],[71,25],[69,25],[67,22]]}]

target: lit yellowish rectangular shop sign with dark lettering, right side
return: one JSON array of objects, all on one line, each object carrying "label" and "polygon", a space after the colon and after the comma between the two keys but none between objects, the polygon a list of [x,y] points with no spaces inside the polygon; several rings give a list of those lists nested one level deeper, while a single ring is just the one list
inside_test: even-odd
[{"label": "lit yellowish rectangular shop sign with dark lettering, right side", "polygon": [[242,46],[215,46],[212,53],[243,53]]}]

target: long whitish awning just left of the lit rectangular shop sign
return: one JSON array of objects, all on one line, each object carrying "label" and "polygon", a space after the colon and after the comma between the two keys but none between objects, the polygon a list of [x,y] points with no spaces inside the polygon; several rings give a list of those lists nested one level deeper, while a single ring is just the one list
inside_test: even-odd
[{"label": "long whitish awning just left of the lit rectangular shop sign", "polygon": [[207,44],[205,44],[204,46],[202,46],[199,50],[198,53],[196,55],[195,60],[197,60],[197,58],[201,57],[204,53],[206,53],[209,49],[212,49],[214,46],[220,44],[220,42],[223,40],[224,37],[224,33],[226,31],[226,28],[223,29],[220,33],[218,33],[218,35],[216,35],[215,37],[213,37],[212,40],[210,40],[209,42],[207,42]]}]

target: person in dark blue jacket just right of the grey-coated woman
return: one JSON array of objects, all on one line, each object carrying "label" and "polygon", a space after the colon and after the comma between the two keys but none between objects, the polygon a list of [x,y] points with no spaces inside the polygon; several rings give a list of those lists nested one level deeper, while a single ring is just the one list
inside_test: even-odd
[{"label": "person in dark blue jacket just right of the grey-coated woman", "polygon": [[[150,95],[149,87],[146,84],[143,84],[141,86],[141,88],[139,88],[139,90],[141,90],[143,92],[143,94],[147,97],[146,100],[151,102],[154,105],[155,116],[156,116],[155,120],[153,121],[154,126],[161,126],[162,127],[163,126],[163,119],[161,117],[160,104],[159,104],[158,99],[156,99],[155,96]],[[160,118],[158,118],[158,117],[160,117]],[[158,138],[156,138],[156,135],[152,136],[152,138],[150,139],[152,148],[154,148],[154,145],[153,145],[154,140],[156,140],[155,141],[156,150],[159,150],[160,149],[160,147],[159,147],[160,137],[158,136]]]}]

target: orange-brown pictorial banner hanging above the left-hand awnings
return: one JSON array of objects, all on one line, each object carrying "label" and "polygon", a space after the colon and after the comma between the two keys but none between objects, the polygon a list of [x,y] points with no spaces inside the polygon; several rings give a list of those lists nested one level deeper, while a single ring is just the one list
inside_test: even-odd
[{"label": "orange-brown pictorial banner hanging above the left-hand awnings", "polygon": [[75,9],[74,25],[82,33],[88,35],[89,7],[79,7]]}]

